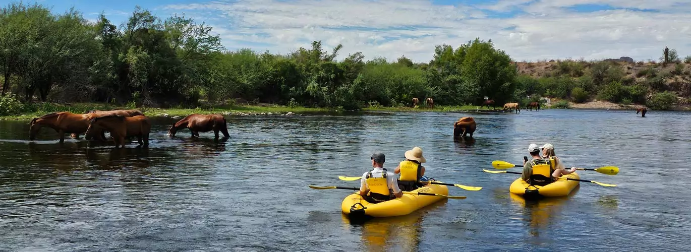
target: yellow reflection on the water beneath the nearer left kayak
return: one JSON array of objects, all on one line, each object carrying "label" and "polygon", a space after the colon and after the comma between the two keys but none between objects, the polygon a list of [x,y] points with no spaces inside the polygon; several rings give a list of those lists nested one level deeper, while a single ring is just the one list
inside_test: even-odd
[{"label": "yellow reflection on the water beneath the nearer left kayak", "polygon": [[341,217],[351,229],[361,233],[365,251],[419,251],[424,216],[446,202],[447,199],[439,200],[403,216],[351,220],[341,213]]}]

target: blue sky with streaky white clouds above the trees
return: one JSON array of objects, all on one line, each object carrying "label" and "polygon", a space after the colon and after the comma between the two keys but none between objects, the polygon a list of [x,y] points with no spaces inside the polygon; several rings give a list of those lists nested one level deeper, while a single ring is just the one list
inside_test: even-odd
[{"label": "blue sky with streaky white clouds above the trees", "polygon": [[[3,6],[10,1],[0,0]],[[33,1],[24,1],[25,3]],[[120,24],[136,5],[158,17],[185,14],[214,27],[227,50],[289,53],[321,40],[337,59],[433,58],[436,45],[491,39],[515,61],[658,60],[665,46],[691,55],[691,0],[38,0]]]}]

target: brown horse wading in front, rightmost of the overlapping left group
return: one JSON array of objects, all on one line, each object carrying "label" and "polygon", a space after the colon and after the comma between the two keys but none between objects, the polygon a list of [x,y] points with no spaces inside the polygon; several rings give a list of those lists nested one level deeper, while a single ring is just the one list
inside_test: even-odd
[{"label": "brown horse wading in front, rightmost of the overlapping left group", "polygon": [[[96,127],[97,126],[97,127]],[[115,148],[118,145],[125,148],[125,137],[137,137],[139,145],[149,146],[149,133],[151,121],[144,115],[125,117],[122,115],[106,115],[91,119],[86,129],[86,135],[93,133],[96,128],[103,128],[113,135]],[[144,141],[142,142],[142,139]]]}]

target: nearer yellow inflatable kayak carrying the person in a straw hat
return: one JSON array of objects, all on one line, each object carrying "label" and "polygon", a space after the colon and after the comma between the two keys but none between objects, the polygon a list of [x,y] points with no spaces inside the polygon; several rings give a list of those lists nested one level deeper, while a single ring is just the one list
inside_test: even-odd
[{"label": "nearer yellow inflatable kayak carrying the person in a straw hat", "polygon": [[[438,182],[438,181],[437,181]],[[448,188],[442,184],[428,184],[417,188],[413,193],[439,193],[448,195]],[[372,204],[364,200],[359,193],[352,193],[341,202],[341,211],[348,217],[391,217],[407,215],[417,209],[443,200],[444,197],[431,195],[404,194],[403,197],[388,200],[377,204]]]}]

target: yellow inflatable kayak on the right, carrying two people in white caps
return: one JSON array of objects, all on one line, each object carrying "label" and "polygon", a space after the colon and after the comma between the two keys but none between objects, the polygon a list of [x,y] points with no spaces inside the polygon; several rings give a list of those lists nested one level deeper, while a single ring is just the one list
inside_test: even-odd
[{"label": "yellow inflatable kayak on the right, carrying two people in white caps", "polygon": [[[578,177],[576,173],[563,175],[562,177],[580,180],[580,177]],[[578,183],[578,181],[574,180],[557,180],[551,182],[551,184],[547,184],[547,186],[531,186],[519,177],[511,183],[509,191],[522,195],[523,197],[560,197],[569,195],[571,190],[574,190],[574,188],[578,186]]]}]

